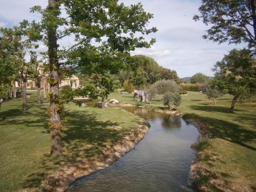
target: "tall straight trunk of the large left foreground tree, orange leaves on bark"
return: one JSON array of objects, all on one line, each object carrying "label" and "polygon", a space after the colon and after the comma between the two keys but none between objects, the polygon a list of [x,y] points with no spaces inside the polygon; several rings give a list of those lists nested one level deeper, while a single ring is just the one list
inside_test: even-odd
[{"label": "tall straight trunk of the large left foreground tree, orange leaves on bark", "polygon": [[[56,7],[57,0],[48,1],[48,11],[49,19],[55,19],[57,17]],[[59,104],[59,63],[57,55],[57,24],[55,21],[51,22],[49,20],[49,26],[47,30],[48,36],[48,55],[49,55],[49,65],[50,65],[50,129],[51,129],[51,156],[57,157],[62,155],[61,149],[61,137],[60,137],[60,115],[57,110],[57,105]]]}]

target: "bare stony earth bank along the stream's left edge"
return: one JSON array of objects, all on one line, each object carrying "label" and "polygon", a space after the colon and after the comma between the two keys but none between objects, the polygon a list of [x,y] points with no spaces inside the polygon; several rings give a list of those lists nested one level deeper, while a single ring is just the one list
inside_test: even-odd
[{"label": "bare stony earth bank along the stream's left edge", "polygon": [[[143,139],[148,131],[148,127],[143,124],[143,119],[141,119],[141,123],[129,136],[126,136],[117,144],[110,146],[102,155],[90,159],[82,159],[71,166],[64,166],[60,170],[50,174],[45,181],[42,181],[44,191],[64,191],[77,178],[106,168],[114,161],[123,157]],[[25,192],[26,189],[23,191]]]}]

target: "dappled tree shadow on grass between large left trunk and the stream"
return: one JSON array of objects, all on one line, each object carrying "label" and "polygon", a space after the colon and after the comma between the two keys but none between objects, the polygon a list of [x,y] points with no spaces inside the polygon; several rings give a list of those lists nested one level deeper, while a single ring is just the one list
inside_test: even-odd
[{"label": "dappled tree shadow on grass between large left trunk and the stream", "polygon": [[[100,121],[96,113],[88,111],[72,112],[69,117],[71,121],[65,124],[67,128],[61,133],[63,156],[54,159],[49,154],[45,154],[40,163],[42,172],[27,176],[23,184],[24,188],[39,187],[48,172],[61,165],[74,165],[81,159],[95,155],[103,156],[103,151],[108,145],[117,143],[124,134],[131,131],[125,129],[120,131],[118,127],[122,122]],[[113,126],[117,129],[113,129]]]}]

